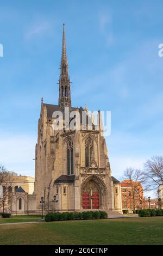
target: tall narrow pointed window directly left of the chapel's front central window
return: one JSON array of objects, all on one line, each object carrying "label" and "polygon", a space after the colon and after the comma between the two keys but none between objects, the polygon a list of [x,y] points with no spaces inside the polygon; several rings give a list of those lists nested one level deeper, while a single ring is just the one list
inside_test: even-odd
[{"label": "tall narrow pointed window directly left of the chapel's front central window", "polygon": [[67,141],[67,174],[73,174],[73,142],[71,138]]}]

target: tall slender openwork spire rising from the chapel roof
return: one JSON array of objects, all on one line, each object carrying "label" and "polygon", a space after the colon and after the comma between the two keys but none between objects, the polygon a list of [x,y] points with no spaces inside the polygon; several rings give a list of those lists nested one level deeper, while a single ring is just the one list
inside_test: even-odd
[{"label": "tall slender openwork spire rising from the chapel roof", "polygon": [[68,76],[68,61],[66,56],[65,24],[63,24],[62,56],[59,78],[59,106],[71,107],[70,78]]}]

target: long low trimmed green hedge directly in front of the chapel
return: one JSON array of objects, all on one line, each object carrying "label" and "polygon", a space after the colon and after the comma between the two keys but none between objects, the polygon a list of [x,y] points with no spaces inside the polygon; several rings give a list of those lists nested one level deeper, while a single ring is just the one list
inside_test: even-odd
[{"label": "long low trimmed green hedge directly in front of the chapel", "polygon": [[83,211],[83,212],[49,212],[45,216],[45,221],[70,221],[70,220],[93,220],[108,218],[105,211]]}]

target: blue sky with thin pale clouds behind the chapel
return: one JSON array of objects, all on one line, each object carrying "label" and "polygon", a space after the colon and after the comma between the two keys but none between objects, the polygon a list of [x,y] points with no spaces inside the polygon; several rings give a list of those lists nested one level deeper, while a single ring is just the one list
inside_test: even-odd
[{"label": "blue sky with thin pale clouds behind the chapel", "polygon": [[162,155],[162,1],[0,0],[0,162],[34,176],[41,96],[58,103],[65,22],[72,104],[111,111],[112,173]]}]

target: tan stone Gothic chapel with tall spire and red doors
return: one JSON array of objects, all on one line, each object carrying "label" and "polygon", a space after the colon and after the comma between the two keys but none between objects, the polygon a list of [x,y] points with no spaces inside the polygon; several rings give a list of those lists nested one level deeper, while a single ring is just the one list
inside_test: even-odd
[{"label": "tan stone Gothic chapel with tall spire and red doors", "polygon": [[[90,118],[86,107],[72,107],[63,25],[59,102],[51,105],[41,100],[35,148],[36,212],[40,212],[41,197],[45,212],[54,211],[56,196],[56,210],[60,212],[99,209],[110,215],[121,213],[120,182],[111,174],[100,125],[99,130],[87,123],[86,129],[81,125],[78,130],[54,130],[53,113],[60,111],[65,117],[65,107],[69,107],[70,113],[84,112]],[[98,115],[100,118],[100,111]]]}]

